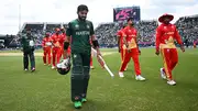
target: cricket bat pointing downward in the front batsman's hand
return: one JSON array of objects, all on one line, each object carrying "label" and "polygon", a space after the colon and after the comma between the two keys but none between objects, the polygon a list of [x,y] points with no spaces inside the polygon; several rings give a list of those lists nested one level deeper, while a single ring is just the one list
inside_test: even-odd
[{"label": "cricket bat pointing downward in the front batsman's hand", "polygon": [[[94,55],[97,55],[97,51],[96,51],[95,48],[91,47],[91,51],[94,52]],[[114,77],[113,73],[109,69],[109,67],[107,66],[107,64],[106,64],[106,62],[103,60],[102,56],[99,56],[99,58],[100,58],[100,60],[102,62],[102,63],[99,62],[100,65],[101,65],[103,68],[106,68],[106,70],[109,73],[109,75],[110,75],[111,77]]]}]

